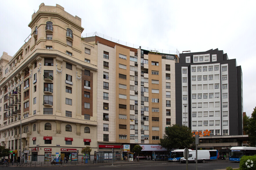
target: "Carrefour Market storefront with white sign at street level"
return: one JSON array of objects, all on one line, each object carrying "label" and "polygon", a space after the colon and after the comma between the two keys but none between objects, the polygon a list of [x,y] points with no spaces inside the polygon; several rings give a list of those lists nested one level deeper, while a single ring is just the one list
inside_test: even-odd
[{"label": "Carrefour Market storefront with white sign at street level", "polygon": [[160,160],[168,160],[168,153],[167,149],[163,148],[160,145],[142,145],[142,150],[140,152],[140,159],[146,159],[146,157],[150,156],[151,160],[160,161]]}]

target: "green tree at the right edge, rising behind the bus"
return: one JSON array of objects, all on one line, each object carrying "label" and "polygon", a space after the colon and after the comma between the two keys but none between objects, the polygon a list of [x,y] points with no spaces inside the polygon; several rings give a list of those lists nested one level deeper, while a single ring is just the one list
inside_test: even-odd
[{"label": "green tree at the right edge, rising behind the bus", "polygon": [[249,136],[249,145],[256,145],[256,107],[253,109],[251,117],[244,116],[244,131]]}]

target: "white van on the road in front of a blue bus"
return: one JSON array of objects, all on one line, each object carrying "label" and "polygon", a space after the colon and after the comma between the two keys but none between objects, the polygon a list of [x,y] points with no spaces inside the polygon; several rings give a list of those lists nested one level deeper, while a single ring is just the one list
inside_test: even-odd
[{"label": "white van on the road in front of a blue bus", "polygon": [[[180,161],[185,163],[186,159],[182,157]],[[210,161],[210,152],[204,150],[197,151],[197,162],[205,163],[205,161]],[[188,162],[196,162],[196,151],[189,151]]]}]

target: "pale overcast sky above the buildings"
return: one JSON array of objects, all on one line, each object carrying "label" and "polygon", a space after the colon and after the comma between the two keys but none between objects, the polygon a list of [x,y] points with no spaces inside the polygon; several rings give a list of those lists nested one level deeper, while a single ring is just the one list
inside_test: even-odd
[{"label": "pale overcast sky above the buildings", "polygon": [[[41,3],[64,7],[82,19],[86,33],[99,32],[143,47],[191,52],[223,50],[243,71],[244,112],[256,106],[256,1],[1,1],[0,53],[13,56],[31,33]],[[160,51],[161,52],[161,51]]]}]

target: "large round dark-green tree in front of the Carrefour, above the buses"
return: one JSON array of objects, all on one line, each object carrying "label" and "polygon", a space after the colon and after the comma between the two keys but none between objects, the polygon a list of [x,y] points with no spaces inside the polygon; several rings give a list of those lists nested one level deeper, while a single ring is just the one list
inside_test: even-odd
[{"label": "large round dark-green tree in front of the Carrefour, above the buses", "polygon": [[160,138],[159,145],[167,150],[172,150],[172,148],[184,149],[190,147],[194,141],[195,138],[190,128],[185,125],[173,124],[165,128],[165,134],[163,138]]}]

